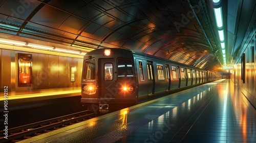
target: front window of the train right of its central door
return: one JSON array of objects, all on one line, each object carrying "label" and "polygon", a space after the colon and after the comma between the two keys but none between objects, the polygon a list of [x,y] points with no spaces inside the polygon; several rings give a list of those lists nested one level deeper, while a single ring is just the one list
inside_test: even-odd
[{"label": "front window of the train right of its central door", "polygon": [[133,79],[133,63],[129,59],[117,60],[117,78],[118,80],[132,80]]}]

